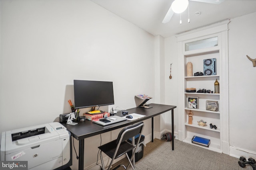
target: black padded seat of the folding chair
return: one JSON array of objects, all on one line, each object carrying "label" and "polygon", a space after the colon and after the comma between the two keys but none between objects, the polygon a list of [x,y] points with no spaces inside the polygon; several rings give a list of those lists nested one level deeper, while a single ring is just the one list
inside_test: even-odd
[{"label": "black padded seat of the folding chair", "polygon": [[[107,154],[110,158],[113,158],[114,152],[115,152],[116,147],[117,147],[116,141],[117,141],[117,139],[114,140],[114,141],[111,141],[109,143],[106,143],[106,144],[104,144],[104,145],[102,145],[98,148],[100,150],[102,150],[102,152]],[[119,149],[117,151],[117,154],[116,154],[116,157],[114,159],[122,156],[123,154],[125,154],[126,152],[129,152],[130,150],[132,150],[134,148],[135,147],[132,144],[128,143],[128,142],[126,142],[126,141],[122,142],[120,144],[120,147],[119,147]]]}]

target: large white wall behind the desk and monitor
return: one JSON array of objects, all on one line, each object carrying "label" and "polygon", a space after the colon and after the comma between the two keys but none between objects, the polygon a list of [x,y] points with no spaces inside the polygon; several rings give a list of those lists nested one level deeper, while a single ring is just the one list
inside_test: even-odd
[{"label": "large white wall behind the desk and monitor", "polygon": [[[0,3],[1,132],[70,113],[74,79],[113,81],[114,108],[136,107],[136,94],[148,94],[156,102],[151,34],[89,0]],[[145,126],[145,135],[150,128]],[[102,134],[102,143],[116,134]],[[85,150],[88,167],[97,160],[100,137],[85,143],[90,146]],[[73,157],[72,169],[77,169]]]}]

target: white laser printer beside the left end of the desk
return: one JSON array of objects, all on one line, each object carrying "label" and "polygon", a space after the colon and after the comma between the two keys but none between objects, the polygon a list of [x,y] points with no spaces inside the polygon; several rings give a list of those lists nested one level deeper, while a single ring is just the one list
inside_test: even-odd
[{"label": "white laser printer beside the left end of the desk", "polygon": [[72,165],[70,132],[52,122],[2,133],[1,161],[28,161],[28,169],[65,169]]}]

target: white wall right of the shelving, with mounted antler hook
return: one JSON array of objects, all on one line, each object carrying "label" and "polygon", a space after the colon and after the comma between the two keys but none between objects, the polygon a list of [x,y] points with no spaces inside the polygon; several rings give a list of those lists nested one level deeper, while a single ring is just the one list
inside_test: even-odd
[{"label": "white wall right of the shelving, with mounted antler hook", "polygon": [[254,154],[254,158],[256,67],[246,55],[256,59],[255,18],[256,13],[234,18],[228,31],[230,154]]}]

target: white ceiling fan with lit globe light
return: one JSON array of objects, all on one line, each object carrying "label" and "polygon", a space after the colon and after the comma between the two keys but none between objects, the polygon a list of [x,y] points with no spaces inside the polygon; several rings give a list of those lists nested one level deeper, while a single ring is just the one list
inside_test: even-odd
[{"label": "white ceiling fan with lit globe light", "polygon": [[188,8],[188,1],[204,2],[204,3],[210,3],[210,4],[220,4],[224,0],[174,0],[174,2],[172,2],[172,5],[170,6],[168,12],[166,13],[162,23],[168,23],[171,20],[174,13],[180,14],[180,13],[184,12]]}]

